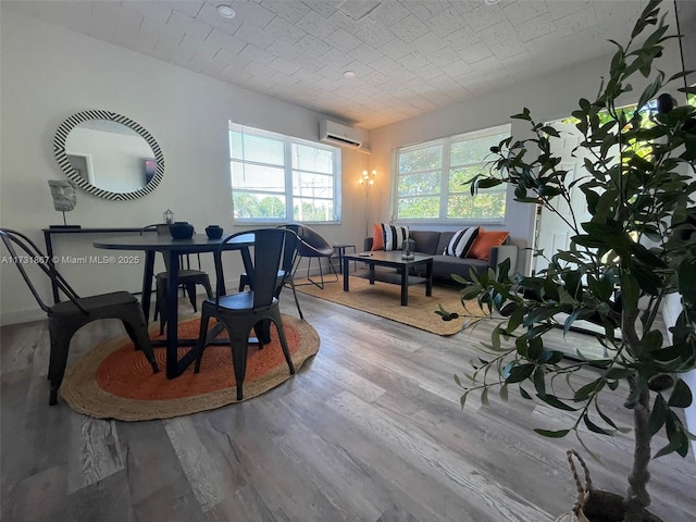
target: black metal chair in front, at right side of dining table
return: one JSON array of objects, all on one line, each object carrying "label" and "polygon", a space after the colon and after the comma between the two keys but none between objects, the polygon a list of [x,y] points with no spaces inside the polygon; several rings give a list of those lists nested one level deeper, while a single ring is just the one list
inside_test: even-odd
[{"label": "black metal chair in front, at right side of dining table", "polygon": [[297,246],[297,235],[287,228],[262,228],[247,231],[227,236],[220,245],[215,256],[215,273],[222,275],[222,254],[225,244],[243,234],[253,234],[253,266],[248,270],[252,282],[252,289],[233,295],[221,295],[220,288],[214,299],[207,299],[201,307],[200,333],[196,345],[195,372],[200,371],[200,362],[209,341],[208,324],[210,318],[215,318],[229,337],[232,361],[237,383],[237,400],[244,397],[243,385],[247,371],[247,353],[249,351],[249,333],[257,331],[259,348],[263,348],[261,327],[265,320],[273,322],[277,328],[281,347],[285,355],[290,375],[295,374],[295,366],[285,339],[283,321],[278,300],[275,297],[278,285],[278,271],[282,270],[284,251],[294,250]]}]

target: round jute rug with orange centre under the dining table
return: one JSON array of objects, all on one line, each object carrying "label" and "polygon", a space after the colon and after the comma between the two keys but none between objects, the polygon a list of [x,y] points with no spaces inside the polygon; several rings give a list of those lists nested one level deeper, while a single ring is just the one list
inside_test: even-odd
[{"label": "round jute rug with orange centre under the dining table", "polygon": [[[211,322],[211,323],[214,323]],[[199,318],[179,322],[179,338],[198,337]],[[295,370],[319,351],[319,335],[306,321],[283,314],[283,325]],[[291,377],[281,343],[272,326],[271,344],[249,345],[244,400],[257,397]],[[151,336],[157,338],[157,326]],[[221,336],[224,336],[224,331]],[[190,348],[179,348],[179,358]],[[78,413],[97,419],[145,421],[170,419],[220,408],[236,400],[229,345],[209,345],[200,373],[191,364],[182,375],[165,376],[165,349],[154,348],[160,372],[153,374],[145,356],[127,337],[107,340],[74,363],[66,372],[61,395]]]}]

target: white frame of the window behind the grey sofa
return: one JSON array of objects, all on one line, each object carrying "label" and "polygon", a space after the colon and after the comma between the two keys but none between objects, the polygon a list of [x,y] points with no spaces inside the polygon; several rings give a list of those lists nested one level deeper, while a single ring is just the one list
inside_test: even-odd
[{"label": "white frame of the window behind the grey sofa", "polygon": [[[449,191],[449,175],[450,175],[450,169],[451,169],[451,147],[455,144],[459,144],[462,141],[468,141],[468,140],[472,140],[472,139],[477,139],[477,138],[482,138],[482,137],[487,137],[487,136],[496,136],[496,135],[505,135],[510,136],[511,134],[511,125],[505,124],[505,125],[498,125],[496,127],[490,127],[490,128],[486,128],[486,129],[482,129],[482,130],[474,130],[471,133],[464,133],[464,134],[457,134],[453,136],[448,136],[445,138],[439,138],[439,139],[433,139],[431,141],[424,141],[421,144],[415,144],[415,145],[410,145],[408,147],[400,147],[397,149],[394,149],[393,154],[391,154],[391,202],[390,202],[390,207],[391,207],[391,221],[394,223],[401,223],[401,224],[469,224],[469,223],[475,223],[475,224],[499,224],[499,223],[504,223],[505,222],[505,212],[500,217],[495,217],[495,219],[481,219],[481,217],[447,217],[447,202],[449,199],[449,196],[451,194],[458,194],[457,192],[450,192]],[[498,141],[496,141],[495,145],[497,145]],[[439,172],[440,174],[440,184],[439,184],[439,212],[438,212],[438,216],[437,217],[423,217],[423,219],[417,219],[417,217],[399,217],[398,216],[398,204],[399,204],[399,179],[400,179],[400,172],[399,172],[399,158],[401,153],[405,152],[411,152],[413,150],[418,150],[418,149],[423,149],[423,148],[427,148],[427,147],[433,147],[433,146],[442,146],[442,164],[440,167],[436,171]],[[461,166],[474,166],[477,164],[485,164],[487,163],[487,161],[489,161],[489,159],[486,158],[482,158],[482,161],[480,163],[471,163],[471,164],[467,164],[467,165],[461,165]],[[433,170],[428,170],[428,171],[433,171]],[[423,171],[423,172],[427,172],[427,171]],[[410,172],[409,175],[412,175],[413,173]],[[462,187],[461,191],[469,191],[470,188],[469,186]],[[506,194],[507,195],[507,186],[505,184],[500,185],[499,187],[494,187],[490,189],[486,189],[486,192],[500,192],[500,194]],[[405,196],[405,199],[407,197]],[[412,197],[408,197],[408,198],[412,198]],[[506,196],[506,200],[507,200],[507,196]],[[507,204],[506,204],[506,209],[507,209]]]}]

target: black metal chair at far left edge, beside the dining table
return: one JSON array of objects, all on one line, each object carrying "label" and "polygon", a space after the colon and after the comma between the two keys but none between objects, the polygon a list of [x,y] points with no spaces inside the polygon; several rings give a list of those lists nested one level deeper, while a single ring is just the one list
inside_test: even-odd
[{"label": "black metal chair at far left edge, beside the dining table", "polygon": [[[152,344],[148,335],[147,321],[138,300],[127,291],[114,291],[91,297],[79,297],[55,270],[50,260],[24,234],[8,228],[0,229],[0,237],[10,252],[12,263],[16,265],[22,278],[29,287],[35,299],[48,314],[48,331],[51,340],[48,378],[51,381],[49,405],[58,402],[58,390],[63,382],[67,352],[73,334],[85,324],[98,319],[120,319],[133,339],[136,349],[141,350],[157,373],[159,368],[152,352]],[[17,249],[20,254],[17,254]],[[29,274],[24,266],[24,260],[32,260],[32,265],[38,266],[62,291],[67,301],[47,306],[32,284]]]}]

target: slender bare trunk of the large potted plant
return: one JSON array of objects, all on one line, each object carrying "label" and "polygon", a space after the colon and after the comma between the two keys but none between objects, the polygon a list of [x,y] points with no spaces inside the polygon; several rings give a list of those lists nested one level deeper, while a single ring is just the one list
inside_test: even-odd
[{"label": "slender bare trunk of the large potted plant", "polygon": [[[624,312],[622,334],[629,344],[629,349],[635,360],[641,353],[641,339],[635,331],[637,311],[634,313]],[[650,420],[650,391],[646,383],[639,383],[637,375],[629,377],[629,387],[634,395],[636,389],[643,386],[635,403],[633,405],[633,430],[634,450],[633,469],[629,475],[629,492],[625,499],[625,522],[642,522],[646,508],[650,505],[650,496],[647,492],[647,484],[650,480],[648,464],[650,463],[650,431],[648,422]]]}]

